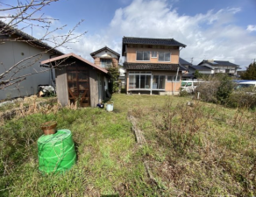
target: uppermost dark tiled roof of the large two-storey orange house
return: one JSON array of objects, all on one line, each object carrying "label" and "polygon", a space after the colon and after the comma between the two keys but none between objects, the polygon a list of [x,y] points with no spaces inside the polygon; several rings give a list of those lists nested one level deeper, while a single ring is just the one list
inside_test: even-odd
[{"label": "uppermost dark tiled roof of the large two-storey orange house", "polygon": [[135,38],[135,37],[124,37],[122,45],[122,55],[124,55],[124,45],[134,44],[134,45],[153,45],[153,46],[181,46],[186,47],[186,45],[178,42],[175,39],[153,39],[153,38]]}]

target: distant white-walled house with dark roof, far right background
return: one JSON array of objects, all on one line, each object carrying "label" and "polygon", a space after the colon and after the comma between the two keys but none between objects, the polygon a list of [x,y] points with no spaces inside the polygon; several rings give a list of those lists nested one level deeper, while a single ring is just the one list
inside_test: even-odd
[{"label": "distant white-walled house with dark roof, far right background", "polygon": [[219,60],[203,60],[198,64],[198,66],[210,67],[213,69],[213,73],[224,73],[224,74],[237,74],[237,70],[240,67],[229,61],[219,61]]}]

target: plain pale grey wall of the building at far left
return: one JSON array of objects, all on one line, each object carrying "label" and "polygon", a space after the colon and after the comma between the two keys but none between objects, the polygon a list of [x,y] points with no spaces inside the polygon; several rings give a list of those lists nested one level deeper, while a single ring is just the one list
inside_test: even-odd
[{"label": "plain pale grey wall of the building at far left", "polygon": [[[13,65],[17,64],[19,61],[24,60],[25,58],[31,57],[32,55],[43,52],[43,49],[40,49],[35,46],[31,46],[24,42],[6,42],[3,45],[0,45],[0,74],[3,74]],[[35,71],[47,70],[44,73],[33,74],[27,76],[25,81],[21,81],[18,84],[4,88],[0,90],[0,100],[8,99],[18,96],[27,96],[34,95],[38,93],[38,86],[49,84],[52,85],[52,77],[50,70],[45,67],[39,67],[40,61],[47,60],[50,58],[50,55],[53,53],[44,53],[42,57],[35,57],[30,60],[26,60],[18,65],[18,67],[25,67],[18,71],[17,76],[24,74],[31,74]],[[32,67],[27,67],[31,65]],[[13,70],[15,71],[15,70]],[[11,75],[9,75],[10,77]],[[53,79],[54,79],[53,71]],[[7,77],[8,79],[8,77]],[[2,79],[4,81],[4,79]]]}]

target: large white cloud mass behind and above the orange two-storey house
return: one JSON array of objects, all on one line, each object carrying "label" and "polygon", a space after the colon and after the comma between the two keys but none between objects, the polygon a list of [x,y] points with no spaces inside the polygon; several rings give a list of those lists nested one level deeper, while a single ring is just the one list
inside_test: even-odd
[{"label": "large white cloud mass behind and above the orange two-storey house", "polygon": [[[223,8],[206,11],[195,16],[179,15],[164,0],[134,0],[130,5],[119,8],[108,28],[95,35],[85,34],[79,43],[71,44],[69,52],[81,54],[92,60],[89,53],[109,46],[121,53],[122,38],[174,38],[187,45],[181,57],[197,64],[203,59],[231,60],[240,66],[248,66],[255,58],[255,25],[247,31],[234,25],[239,8]],[[68,51],[66,51],[68,52]],[[242,60],[243,59],[243,60]],[[245,60],[249,59],[249,60]]]}]

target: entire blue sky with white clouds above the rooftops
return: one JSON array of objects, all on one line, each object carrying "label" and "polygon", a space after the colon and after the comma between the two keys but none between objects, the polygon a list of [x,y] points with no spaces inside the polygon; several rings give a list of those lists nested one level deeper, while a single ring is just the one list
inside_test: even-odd
[{"label": "entire blue sky with white clouds above the rooftops", "polygon": [[177,39],[187,45],[181,57],[194,64],[214,59],[245,67],[256,59],[256,0],[60,0],[42,12],[59,19],[53,27],[84,19],[75,32],[88,32],[60,50],[88,60],[103,46],[121,53],[124,36]]}]

